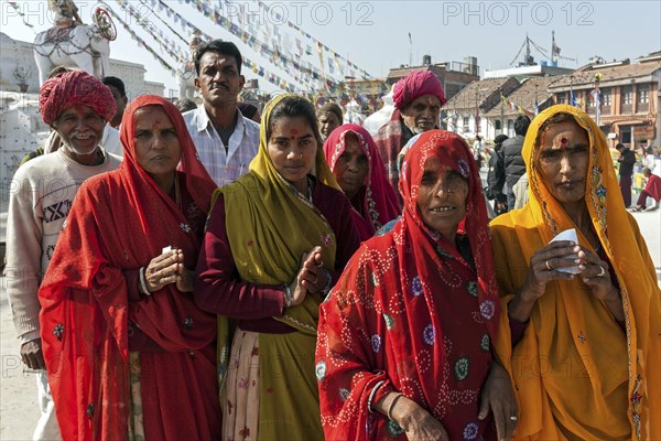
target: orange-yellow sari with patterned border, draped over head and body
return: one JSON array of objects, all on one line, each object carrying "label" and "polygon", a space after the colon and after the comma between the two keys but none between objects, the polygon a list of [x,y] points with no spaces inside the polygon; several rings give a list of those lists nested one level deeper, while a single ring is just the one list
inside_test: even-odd
[{"label": "orange-yellow sari with patterned border, draped over head and body", "polygon": [[[529,203],[491,222],[494,261],[502,309],[523,284],[529,261],[555,235],[576,226],[535,168],[542,123],[572,115],[589,137],[585,203],[617,275],[625,331],[579,277],[552,281],[531,313],[523,338],[511,346],[508,314],[501,314],[496,349],[509,370],[522,440],[661,439],[661,305],[652,259],[626,211],[602,130],[576,107],[559,105],[530,125],[522,155]],[[578,232],[582,246],[594,249]]]}]

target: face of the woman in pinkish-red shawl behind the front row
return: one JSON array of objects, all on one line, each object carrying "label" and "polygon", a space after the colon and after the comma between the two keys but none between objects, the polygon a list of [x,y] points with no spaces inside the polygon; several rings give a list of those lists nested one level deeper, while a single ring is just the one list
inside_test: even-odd
[{"label": "face of the woman in pinkish-red shawl behind the front row", "polygon": [[345,150],[335,161],[333,174],[348,198],[354,197],[365,184],[369,161],[354,132],[345,135]]}]

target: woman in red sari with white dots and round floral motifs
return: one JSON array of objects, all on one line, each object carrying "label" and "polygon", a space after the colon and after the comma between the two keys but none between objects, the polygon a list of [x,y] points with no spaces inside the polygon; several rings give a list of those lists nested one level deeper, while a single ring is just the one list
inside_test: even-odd
[{"label": "woman in red sari with white dots and round floral motifs", "polygon": [[407,152],[404,213],[364,243],[322,304],[316,376],[327,439],[511,435],[516,404],[491,342],[499,308],[470,148],[431,130]]}]

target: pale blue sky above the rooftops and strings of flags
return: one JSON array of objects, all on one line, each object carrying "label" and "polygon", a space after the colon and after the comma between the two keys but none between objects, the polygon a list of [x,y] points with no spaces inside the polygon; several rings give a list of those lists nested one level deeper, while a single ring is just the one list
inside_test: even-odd
[{"label": "pale blue sky above the rooftops and strings of flags", "polygon": [[[134,8],[160,29],[164,25],[149,13],[145,4],[152,0],[130,1]],[[8,1],[0,0],[0,30],[13,39],[32,41],[35,31],[45,30],[48,14],[45,1],[17,1],[25,19],[34,30],[23,24],[23,19],[11,8]],[[90,12],[97,2],[77,1],[82,15],[89,22]],[[108,1],[113,10],[123,14],[116,1]],[[263,62],[260,55],[238,41],[229,32],[220,29],[194,7],[180,0],[166,0],[167,6],[186,20],[195,23],[205,33],[237,42],[241,51],[251,60],[272,72],[286,77],[278,67]],[[210,1],[227,15],[243,17],[259,7],[253,1]],[[528,34],[543,50],[551,49],[551,32],[555,31],[555,41],[561,55],[575,58],[576,62],[561,61],[565,67],[578,67],[594,55],[604,58],[636,58],[661,50],[661,2],[649,1],[297,1],[268,4],[281,18],[297,24],[305,32],[322,41],[343,57],[367,69],[373,76],[386,76],[390,67],[420,64],[422,56],[429,54],[433,62],[458,61],[466,56],[476,56],[481,72],[490,68],[509,67]],[[167,21],[161,12],[160,15]],[[259,17],[259,19],[257,19]],[[130,18],[127,19],[129,21]],[[252,15],[271,25],[279,21],[268,14]],[[172,23],[170,21],[170,23]],[[138,46],[133,40],[116,23],[119,37],[111,43],[112,58],[144,64],[147,79],[165,83],[176,88],[172,75],[161,68],[152,55]],[[188,32],[174,25],[175,30],[187,37]],[[141,37],[156,51],[155,42],[137,23],[131,23]],[[285,24],[282,33],[291,32]],[[411,33],[411,40],[409,40]],[[294,34],[292,33],[292,39]],[[176,39],[175,39],[176,40]],[[293,43],[293,40],[292,40]],[[411,44],[412,43],[412,44]],[[311,58],[315,58],[315,54]],[[544,58],[533,52],[535,60]],[[318,57],[313,60],[318,65]],[[254,77],[246,72],[248,78]],[[263,79],[260,84],[272,89]]]}]

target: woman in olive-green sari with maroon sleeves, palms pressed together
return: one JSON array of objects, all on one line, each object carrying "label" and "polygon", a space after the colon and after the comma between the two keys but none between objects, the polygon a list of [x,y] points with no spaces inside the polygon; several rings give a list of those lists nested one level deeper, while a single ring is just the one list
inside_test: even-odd
[{"label": "woman in olive-green sari with maroon sleeves, palms pressed together", "polygon": [[[224,438],[323,439],[314,380],[318,306],[358,235],[324,159],[312,104],[274,98],[260,127],[250,172],[216,193],[195,299],[221,315]],[[231,340],[226,318],[238,322]]]}]

